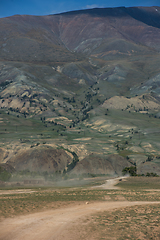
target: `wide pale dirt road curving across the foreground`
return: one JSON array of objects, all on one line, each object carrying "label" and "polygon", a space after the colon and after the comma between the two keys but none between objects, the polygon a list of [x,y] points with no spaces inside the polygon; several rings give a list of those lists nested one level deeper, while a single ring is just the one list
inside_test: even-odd
[{"label": "wide pale dirt road curving across the foreground", "polygon": [[[94,202],[5,219],[0,223],[0,240],[69,240],[65,230],[78,219],[101,211],[160,202]],[[76,231],[76,229],[75,229]]]}]

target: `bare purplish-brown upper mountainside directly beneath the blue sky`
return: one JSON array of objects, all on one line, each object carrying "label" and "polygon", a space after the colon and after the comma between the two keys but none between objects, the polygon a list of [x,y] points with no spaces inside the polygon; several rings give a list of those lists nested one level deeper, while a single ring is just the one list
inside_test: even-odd
[{"label": "bare purplish-brown upper mountainside directly beneath the blue sky", "polygon": [[[68,62],[83,59],[75,52],[104,58],[110,53],[123,57],[159,50],[158,11],[157,7],[104,8],[2,18],[0,59]],[[140,45],[150,49],[141,49]]]}]

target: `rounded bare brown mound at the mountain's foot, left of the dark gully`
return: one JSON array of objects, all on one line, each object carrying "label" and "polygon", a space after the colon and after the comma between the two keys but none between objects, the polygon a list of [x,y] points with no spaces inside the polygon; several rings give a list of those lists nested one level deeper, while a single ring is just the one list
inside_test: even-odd
[{"label": "rounded bare brown mound at the mountain's foot, left of the dark gully", "polygon": [[7,163],[12,165],[16,171],[28,169],[29,171],[54,173],[63,171],[71,157],[62,149],[34,148],[24,150]]}]

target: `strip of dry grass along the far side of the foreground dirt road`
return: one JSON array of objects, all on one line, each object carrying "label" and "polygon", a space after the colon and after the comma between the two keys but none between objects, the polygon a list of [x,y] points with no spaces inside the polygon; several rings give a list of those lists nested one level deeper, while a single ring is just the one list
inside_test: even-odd
[{"label": "strip of dry grass along the far side of the foreground dirt road", "polygon": [[[158,179],[158,178],[156,178]],[[43,211],[73,202],[93,201],[160,201],[160,191],[145,189],[105,190],[90,188],[48,188],[33,189],[20,194],[0,196],[0,217],[22,215]]]}]

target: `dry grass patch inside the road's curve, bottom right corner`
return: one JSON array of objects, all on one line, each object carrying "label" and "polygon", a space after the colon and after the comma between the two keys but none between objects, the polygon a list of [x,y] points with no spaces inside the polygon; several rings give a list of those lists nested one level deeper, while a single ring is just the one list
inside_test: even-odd
[{"label": "dry grass patch inside the road's curve, bottom right corner", "polygon": [[76,239],[160,239],[160,204],[126,207],[88,217],[77,227]]}]

